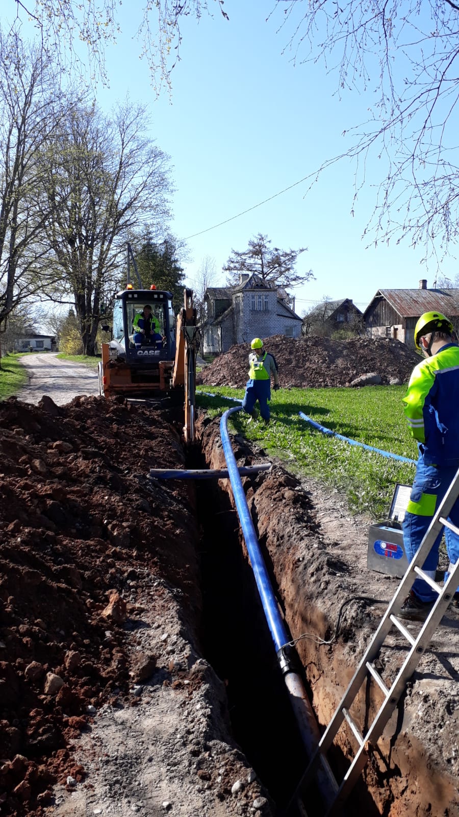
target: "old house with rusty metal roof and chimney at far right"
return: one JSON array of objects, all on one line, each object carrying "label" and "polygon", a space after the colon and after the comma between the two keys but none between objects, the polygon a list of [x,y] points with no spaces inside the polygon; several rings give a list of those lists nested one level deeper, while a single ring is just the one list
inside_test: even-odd
[{"label": "old house with rusty metal roof and chimney at far right", "polygon": [[459,325],[459,289],[428,289],[421,279],[417,289],[378,289],[363,312],[370,337],[396,337],[414,346],[414,328],[423,312],[442,312]]}]

